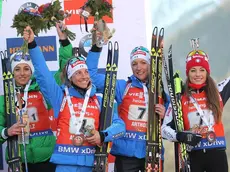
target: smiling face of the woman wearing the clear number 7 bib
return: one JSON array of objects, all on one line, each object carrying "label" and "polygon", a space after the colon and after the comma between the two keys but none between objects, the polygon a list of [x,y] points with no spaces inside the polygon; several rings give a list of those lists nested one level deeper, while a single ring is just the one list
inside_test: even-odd
[{"label": "smiling face of the woman wearing the clear number 7 bib", "polygon": [[131,63],[132,71],[140,81],[146,82],[149,75],[149,64],[144,59],[135,59]]}]

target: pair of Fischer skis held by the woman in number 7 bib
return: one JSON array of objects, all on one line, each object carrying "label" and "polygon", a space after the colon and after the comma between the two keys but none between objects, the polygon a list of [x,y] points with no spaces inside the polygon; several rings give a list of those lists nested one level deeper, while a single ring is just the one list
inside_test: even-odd
[{"label": "pair of Fischer skis held by the woman in number 7 bib", "polygon": [[155,27],[152,33],[150,75],[149,75],[149,105],[146,147],[146,171],[161,172],[161,118],[155,112],[155,104],[162,103],[162,57],[164,28],[158,35]]}]

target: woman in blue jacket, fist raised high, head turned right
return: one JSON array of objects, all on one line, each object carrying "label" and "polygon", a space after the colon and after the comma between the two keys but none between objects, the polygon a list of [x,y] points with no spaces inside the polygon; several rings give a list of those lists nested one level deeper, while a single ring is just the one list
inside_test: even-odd
[{"label": "woman in blue jacket, fist raised high, head turned right", "polygon": [[58,86],[29,26],[25,28],[24,39],[29,43],[37,82],[58,118],[57,141],[51,157],[51,162],[57,164],[56,172],[91,172],[95,146],[123,136],[124,122],[114,113],[112,125],[98,131],[100,101],[84,59],[69,60],[63,71],[65,83]]}]

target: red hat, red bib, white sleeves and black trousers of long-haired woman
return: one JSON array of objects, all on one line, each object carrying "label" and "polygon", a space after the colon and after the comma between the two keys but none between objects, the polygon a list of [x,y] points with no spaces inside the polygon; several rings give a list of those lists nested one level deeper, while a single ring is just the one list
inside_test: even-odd
[{"label": "red hat, red bib, white sleeves and black trousers of long-haired woman", "polygon": [[[190,54],[192,55],[187,57],[187,75],[193,66],[201,66],[206,69],[207,73],[210,73],[208,57],[203,51],[194,50]],[[222,109],[230,97],[229,81],[230,77],[217,85]],[[184,130],[199,134],[202,137],[195,146],[187,145],[191,169],[192,172],[227,172],[228,163],[223,123],[222,121],[215,122],[214,114],[207,106],[205,86],[206,83],[190,84],[191,95],[182,95],[181,98]],[[177,134],[170,104],[162,125],[162,137],[177,142]]]}]

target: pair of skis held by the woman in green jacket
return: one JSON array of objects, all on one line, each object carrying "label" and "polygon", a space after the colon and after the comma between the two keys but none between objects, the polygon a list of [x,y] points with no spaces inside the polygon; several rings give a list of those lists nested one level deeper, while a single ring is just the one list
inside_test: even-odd
[{"label": "pair of skis held by the woman in green jacket", "polygon": [[[13,85],[13,74],[11,71],[10,57],[7,56],[7,50],[1,51],[2,60],[2,75],[3,75],[3,87],[4,87],[4,103],[5,103],[5,114],[7,128],[15,124],[16,121],[16,108],[14,99],[14,85]],[[19,157],[19,146],[17,136],[7,138],[7,151],[8,151],[8,171],[9,172],[20,172],[20,157]]]}]

